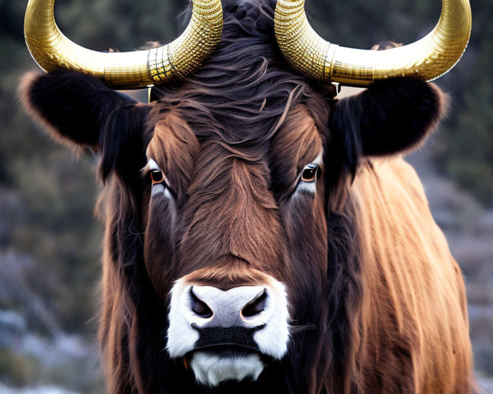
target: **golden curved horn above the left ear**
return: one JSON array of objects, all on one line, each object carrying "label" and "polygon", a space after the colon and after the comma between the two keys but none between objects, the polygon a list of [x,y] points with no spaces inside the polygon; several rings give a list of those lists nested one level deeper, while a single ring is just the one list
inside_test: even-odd
[{"label": "golden curved horn above the left ear", "polygon": [[221,1],[194,0],[190,23],[173,42],[146,51],[97,52],[60,32],[54,3],[28,2],[24,35],[35,62],[46,72],[70,69],[93,75],[113,89],[139,89],[182,79],[211,55],[222,33]]}]

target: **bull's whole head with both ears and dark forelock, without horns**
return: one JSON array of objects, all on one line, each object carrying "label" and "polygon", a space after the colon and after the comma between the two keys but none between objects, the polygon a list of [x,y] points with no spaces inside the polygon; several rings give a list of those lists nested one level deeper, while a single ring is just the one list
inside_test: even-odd
[{"label": "bull's whole head with both ears and dark forelock, without horns", "polygon": [[365,157],[416,147],[443,112],[409,78],[334,100],[284,63],[269,4],[223,7],[209,62],[151,104],[73,71],[21,88],[54,138],[101,155],[115,393],[343,381],[361,296],[348,187]]}]

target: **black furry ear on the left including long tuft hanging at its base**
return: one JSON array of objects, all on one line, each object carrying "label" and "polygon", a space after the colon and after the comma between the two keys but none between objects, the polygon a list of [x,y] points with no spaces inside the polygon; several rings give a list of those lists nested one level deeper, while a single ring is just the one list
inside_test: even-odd
[{"label": "black furry ear on the left including long tuft hanging at its base", "polygon": [[149,105],[73,71],[27,74],[20,95],[30,114],[56,140],[101,153],[103,181],[113,170],[125,177],[144,165]]}]

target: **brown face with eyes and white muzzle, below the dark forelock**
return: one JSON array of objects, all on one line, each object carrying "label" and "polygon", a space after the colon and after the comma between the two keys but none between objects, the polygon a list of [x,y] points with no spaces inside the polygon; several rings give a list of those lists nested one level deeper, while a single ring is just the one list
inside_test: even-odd
[{"label": "brown face with eyes and white muzzle, below the dark forelock", "polygon": [[249,148],[197,136],[176,111],[150,119],[144,260],[170,305],[166,349],[203,384],[255,380],[325,276],[322,135],[304,105]]}]

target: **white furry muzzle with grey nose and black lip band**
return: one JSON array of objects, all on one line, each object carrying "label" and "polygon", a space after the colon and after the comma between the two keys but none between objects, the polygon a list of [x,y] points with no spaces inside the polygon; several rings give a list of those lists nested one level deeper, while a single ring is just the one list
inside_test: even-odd
[{"label": "white furry muzzle with grey nose and black lip band", "polygon": [[256,380],[289,341],[282,283],[220,290],[178,280],[171,292],[167,350],[182,358],[198,382]]}]

